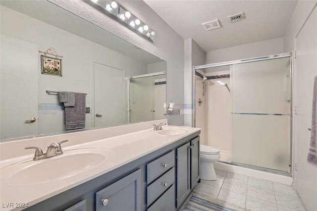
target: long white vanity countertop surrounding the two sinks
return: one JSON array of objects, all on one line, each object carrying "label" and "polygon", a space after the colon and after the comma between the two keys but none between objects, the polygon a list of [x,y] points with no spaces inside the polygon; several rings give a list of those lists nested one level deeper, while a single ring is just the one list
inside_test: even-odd
[{"label": "long white vanity countertop surrounding the two sinks", "polygon": [[[33,155],[24,155],[18,158],[1,160],[0,210],[23,210],[24,208],[19,208],[18,206],[16,206],[18,205],[16,203],[26,203],[30,207],[68,189],[83,184],[84,182],[87,182],[93,178],[103,175],[137,158],[141,158],[147,154],[159,150],[164,146],[167,146],[200,130],[200,128],[182,128],[186,128],[187,132],[181,135],[160,135],[158,134],[159,131],[153,131],[152,128],[149,128],[146,130],[114,136],[106,139],[67,146],[63,148],[63,152],[65,155],[72,152],[72,150],[74,149],[99,148],[106,149],[106,151],[111,152],[111,158],[107,159],[96,168],[86,170],[68,178],[54,180],[43,184],[16,185],[11,182],[11,178],[12,175],[23,169],[23,167],[25,168],[25,166],[30,165],[30,163],[32,164],[35,162],[44,162],[46,161],[46,159],[35,161],[32,160]],[[53,158],[56,159],[58,158],[58,156]],[[21,162],[22,160],[23,162]],[[16,164],[17,162],[19,163]],[[41,174],[41,172],[34,173]]]}]

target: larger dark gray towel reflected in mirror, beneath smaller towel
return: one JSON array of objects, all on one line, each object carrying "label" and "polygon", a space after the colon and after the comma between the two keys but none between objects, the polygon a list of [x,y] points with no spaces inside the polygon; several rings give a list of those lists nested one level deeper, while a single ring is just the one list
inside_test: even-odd
[{"label": "larger dark gray towel reflected in mirror, beneath smaller towel", "polygon": [[86,94],[75,94],[75,106],[65,107],[66,130],[81,129],[85,127]]}]

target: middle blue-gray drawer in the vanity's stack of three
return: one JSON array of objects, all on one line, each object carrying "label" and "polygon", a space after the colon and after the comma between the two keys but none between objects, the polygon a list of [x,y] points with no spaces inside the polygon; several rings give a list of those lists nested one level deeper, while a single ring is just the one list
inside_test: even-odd
[{"label": "middle blue-gray drawer in the vanity's stack of three", "polygon": [[165,190],[175,182],[175,168],[170,169],[147,188],[147,204],[151,205]]}]

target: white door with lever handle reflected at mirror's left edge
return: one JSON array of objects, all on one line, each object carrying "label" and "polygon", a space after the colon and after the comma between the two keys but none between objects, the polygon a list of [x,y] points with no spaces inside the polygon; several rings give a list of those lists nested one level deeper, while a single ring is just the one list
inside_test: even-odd
[{"label": "white door with lever handle reflected at mirror's left edge", "polygon": [[37,45],[1,34],[0,139],[38,134],[38,54]]}]

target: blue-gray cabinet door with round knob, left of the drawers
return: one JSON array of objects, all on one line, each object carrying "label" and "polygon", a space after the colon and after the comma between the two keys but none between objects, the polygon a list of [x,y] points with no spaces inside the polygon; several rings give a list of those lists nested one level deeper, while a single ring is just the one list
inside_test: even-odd
[{"label": "blue-gray cabinet door with round knob, left of the drawers", "polygon": [[98,191],[96,211],[141,211],[141,169]]}]

